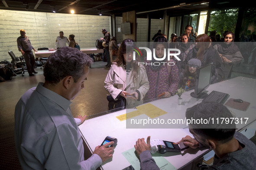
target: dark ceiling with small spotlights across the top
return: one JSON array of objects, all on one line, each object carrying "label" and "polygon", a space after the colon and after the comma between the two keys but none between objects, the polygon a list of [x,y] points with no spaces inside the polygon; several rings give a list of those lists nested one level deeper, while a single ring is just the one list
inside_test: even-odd
[{"label": "dark ceiling with small spotlights across the top", "polygon": [[[201,5],[194,6],[188,4],[199,4],[207,1],[198,0],[167,0],[158,3],[156,0],[1,0],[0,9],[21,10],[52,13],[55,8],[57,13],[70,13],[71,9],[76,14],[98,15],[101,11],[102,15],[121,15],[123,12],[133,11],[143,13],[155,11],[158,9],[175,9],[175,13],[182,10],[195,10],[201,8]],[[187,2],[186,2],[187,1]],[[38,3],[38,5],[37,5]],[[182,8],[181,3],[185,3]],[[7,7],[6,5],[7,4]],[[37,5],[37,6],[36,6]],[[36,8],[35,8],[36,6]],[[169,10],[169,9],[168,9]]]}]

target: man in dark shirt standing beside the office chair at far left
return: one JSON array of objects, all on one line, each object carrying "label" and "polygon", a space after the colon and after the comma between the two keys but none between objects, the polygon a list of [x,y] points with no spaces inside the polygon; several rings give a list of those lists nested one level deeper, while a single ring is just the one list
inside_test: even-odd
[{"label": "man in dark shirt standing beside the office chair at far left", "polygon": [[29,41],[29,37],[26,36],[25,30],[21,29],[19,31],[19,33],[20,33],[20,36],[17,38],[18,49],[21,52],[21,54],[24,56],[24,59],[26,61],[27,70],[29,72],[29,76],[34,76],[32,73],[37,73],[37,72],[34,70],[35,57],[34,57],[32,50],[34,50],[35,52],[37,52],[37,51],[31,45],[31,43]]}]

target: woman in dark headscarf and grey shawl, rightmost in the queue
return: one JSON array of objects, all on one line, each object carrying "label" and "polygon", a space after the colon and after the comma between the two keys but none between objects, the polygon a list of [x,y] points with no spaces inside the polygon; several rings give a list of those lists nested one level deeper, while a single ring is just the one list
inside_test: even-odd
[{"label": "woman in dark headscarf and grey shawl, rightmost in the queue", "polygon": [[222,58],[222,69],[225,74],[225,79],[230,78],[233,65],[240,64],[243,60],[239,48],[234,43],[234,38],[234,33],[229,31],[224,36],[224,42],[214,45],[214,48]]}]

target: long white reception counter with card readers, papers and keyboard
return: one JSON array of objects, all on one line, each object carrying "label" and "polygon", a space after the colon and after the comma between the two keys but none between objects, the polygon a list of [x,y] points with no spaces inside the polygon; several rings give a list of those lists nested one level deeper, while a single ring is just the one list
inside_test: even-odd
[{"label": "long white reception counter with card readers, papers and keyboard", "polygon": [[[230,98],[240,98],[243,101],[250,102],[246,111],[234,109],[228,107],[233,114],[233,117],[239,118],[240,123],[236,125],[237,131],[244,132],[247,129],[251,129],[250,135],[254,135],[256,131],[256,79],[250,79],[246,77],[236,77],[223,82],[210,85],[207,88],[207,94],[211,91],[220,91],[230,94]],[[151,104],[154,107],[166,112],[165,114],[159,114],[159,116],[153,118],[155,120],[178,120],[185,119],[185,111],[188,107],[192,107],[195,104],[201,103],[202,99],[193,98],[190,96],[191,91],[186,91],[182,94],[182,104],[178,105],[177,95],[170,98],[162,98],[156,101],[152,101],[146,104]],[[94,117],[86,120],[79,126],[82,137],[86,142],[89,150],[94,151],[94,148],[101,144],[106,136],[112,136],[118,139],[117,147],[115,148],[113,158],[101,165],[101,169],[104,170],[123,170],[131,165],[131,161],[127,159],[127,155],[130,157],[136,156],[134,153],[134,145],[137,139],[147,138],[151,136],[151,139],[162,139],[171,142],[178,142],[182,137],[189,134],[188,126],[186,124],[177,123],[160,124],[152,123],[151,125],[144,126],[142,123],[131,125],[132,119],[146,120],[149,116],[141,114],[133,118],[127,118],[126,120],[120,120],[120,116],[130,112],[134,112],[138,107],[115,111],[103,116]],[[150,118],[151,119],[151,118]],[[152,119],[152,120],[153,120]],[[152,121],[154,122],[154,121]],[[253,127],[252,127],[253,125]],[[250,127],[251,126],[251,127]],[[245,130],[246,128],[246,130]],[[250,132],[247,130],[246,132]],[[132,152],[129,152],[132,150]],[[190,170],[194,164],[200,162],[202,155],[210,151],[208,148],[200,149],[187,149],[185,152],[169,152],[166,154],[160,154],[160,157],[164,157],[175,169]],[[91,154],[89,153],[89,154]],[[154,156],[154,154],[152,154]],[[159,154],[156,155],[159,157]],[[138,162],[136,162],[138,161]],[[134,163],[134,164],[133,164]],[[139,160],[132,162],[133,166],[139,164]],[[135,167],[134,167],[135,168]],[[138,168],[138,167],[137,167]],[[135,168],[136,169],[136,168]]]}]

